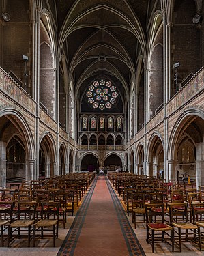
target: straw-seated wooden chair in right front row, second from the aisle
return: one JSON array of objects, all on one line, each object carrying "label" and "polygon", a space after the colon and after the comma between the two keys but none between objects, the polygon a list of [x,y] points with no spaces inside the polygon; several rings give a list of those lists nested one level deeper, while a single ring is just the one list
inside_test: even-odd
[{"label": "straw-seated wooden chair in right front row, second from the aisle", "polygon": [[[171,225],[176,228],[175,239],[179,241],[179,249],[181,252],[181,240],[192,240],[199,243],[201,251],[201,233],[200,227],[188,221],[187,203],[169,203],[169,218]],[[183,233],[181,231],[184,231]],[[189,233],[190,232],[190,233]],[[196,236],[197,235],[197,236]],[[175,242],[177,242],[175,240]]]}]

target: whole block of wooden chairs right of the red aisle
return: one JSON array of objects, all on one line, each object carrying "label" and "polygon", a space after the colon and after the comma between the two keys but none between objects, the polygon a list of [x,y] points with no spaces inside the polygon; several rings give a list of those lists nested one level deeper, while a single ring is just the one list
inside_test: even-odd
[{"label": "whole block of wooden chairs right of the red aisle", "polygon": [[181,251],[182,240],[192,240],[201,251],[204,238],[203,229],[201,232],[201,227],[204,227],[204,189],[199,187],[197,191],[193,184],[132,176],[110,173],[109,180],[123,198],[127,214],[132,212],[134,228],[137,221],[145,223],[146,239],[151,244],[152,252],[155,251],[156,242],[168,242],[172,251],[177,244]]}]

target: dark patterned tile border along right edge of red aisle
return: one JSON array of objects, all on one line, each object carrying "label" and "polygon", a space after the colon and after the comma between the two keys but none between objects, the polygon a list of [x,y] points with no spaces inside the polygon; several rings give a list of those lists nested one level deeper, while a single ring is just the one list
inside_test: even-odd
[{"label": "dark patterned tile border along right edge of red aisle", "polygon": [[126,212],[124,211],[121,205],[121,202],[119,201],[115,191],[111,187],[111,184],[108,181],[107,177],[106,177],[106,184],[108,186],[109,192],[111,193],[115,210],[117,212],[117,218],[121,226],[121,231],[123,232],[123,237],[126,241],[129,255],[145,256],[145,252],[143,251],[143,248],[141,247],[141,244],[139,243],[139,240],[136,238],[136,234],[134,233],[134,230],[132,229],[128,221]]}]

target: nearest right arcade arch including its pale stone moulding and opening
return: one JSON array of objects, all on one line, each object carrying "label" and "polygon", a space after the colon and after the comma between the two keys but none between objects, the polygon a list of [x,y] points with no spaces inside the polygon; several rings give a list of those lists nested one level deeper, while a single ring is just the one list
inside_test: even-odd
[{"label": "nearest right arcade arch including its pale stone moulding and opening", "polygon": [[169,140],[170,178],[187,181],[190,176],[197,186],[204,184],[203,117],[203,111],[189,109],[177,120]]}]

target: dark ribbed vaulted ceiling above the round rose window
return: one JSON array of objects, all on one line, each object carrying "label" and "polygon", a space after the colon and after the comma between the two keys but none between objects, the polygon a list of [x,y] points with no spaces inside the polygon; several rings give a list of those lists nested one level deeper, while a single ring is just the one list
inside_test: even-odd
[{"label": "dark ribbed vaulted ceiling above the round rose window", "polygon": [[95,79],[112,81],[126,102],[139,56],[146,55],[151,15],[158,0],[47,0],[53,14],[59,55],[65,55],[68,79],[83,97]]}]

